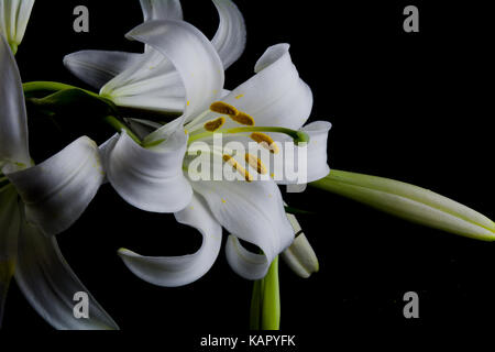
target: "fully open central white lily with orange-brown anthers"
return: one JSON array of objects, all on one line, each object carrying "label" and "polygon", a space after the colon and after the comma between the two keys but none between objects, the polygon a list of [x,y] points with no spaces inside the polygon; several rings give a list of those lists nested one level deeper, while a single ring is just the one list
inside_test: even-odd
[{"label": "fully open central white lily with orange-brown anthers", "polygon": [[[256,64],[257,74],[218,101],[223,85],[223,72],[218,69],[221,62],[211,43],[194,26],[186,22],[154,21],[138,26],[128,36],[162,53],[175,65],[186,87],[187,102],[179,119],[145,139],[147,147],[138,145],[124,132],[113,141],[107,152],[108,178],[116,190],[138,208],[174,211],[178,221],[201,232],[204,244],[196,254],[183,257],[141,256],[124,249],[119,254],[134,274],[152,284],[185,285],[204,275],[213,264],[223,227],[234,234],[226,249],[231,267],[249,279],[263,277],[272,261],[294,240],[276,183],[270,177],[251,182],[250,172],[235,165],[230,155],[223,155],[222,163],[227,161],[235,166],[244,177],[242,180],[194,180],[183,170],[191,162],[185,157],[187,150],[193,147],[191,141],[211,145],[213,132],[241,142],[261,138],[278,143],[285,139],[284,128],[301,128],[309,117],[312,95],[290,61],[288,45],[268,48]],[[191,51],[197,54],[188,54]],[[209,75],[210,79],[197,80],[198,75]],[[228,128],[222,129],[222,124]],[[254,130],[243,132],[246,124]],[[276,133],[256,132],[256,127],[264,132],[273,129]],[[305,128],[311,138],[315,136],[311,141],[321,145],[316,147],[309,143],[311,155],[308,160],[315,163],[308,165],[315,170],[308,173],[309,179],[328,174],[329,129],[327,122],[315,122]],[[255,138],[253,133],[256,133]],[[263,255],[248,252],[238,239],[257,245]]]}]

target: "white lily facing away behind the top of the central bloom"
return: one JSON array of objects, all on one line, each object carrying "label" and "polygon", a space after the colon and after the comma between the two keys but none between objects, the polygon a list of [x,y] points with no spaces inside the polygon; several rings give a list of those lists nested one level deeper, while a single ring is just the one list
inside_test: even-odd
[{"label": "white lily facing away behind the top of the central bloom", "polygon": [[[212,44],[227,69],[244,51],[245,25],[232,1],[213,0],[213,3],[220,25]],[[146,22],[183,19],[176,0],[141,0],[141,7]],[[174,113],[184,109],[185,87],[180,75],[175,65],[148,45],[144,54],[81,51],[67,55],[64,64],[118,106]]]}]

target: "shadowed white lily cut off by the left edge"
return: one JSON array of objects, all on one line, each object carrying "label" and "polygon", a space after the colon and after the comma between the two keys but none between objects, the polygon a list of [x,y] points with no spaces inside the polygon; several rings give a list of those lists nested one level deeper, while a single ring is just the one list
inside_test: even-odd
[{"label": "shadowed white lily cut off by the left edge", "polygon": [[3,37],[0,81],[0,307],[14,274],[26,299],[53,327],[116,329],[92,297],[90,318],[74,317],[74,294],[87,289],[54,237],[79,218],[103,180],[98,147],[84,136],[32,166],[21,77]]}]

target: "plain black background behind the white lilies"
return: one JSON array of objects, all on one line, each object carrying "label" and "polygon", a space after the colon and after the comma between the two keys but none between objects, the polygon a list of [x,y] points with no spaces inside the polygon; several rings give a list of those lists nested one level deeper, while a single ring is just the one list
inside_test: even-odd
[{"label": "plain black background behind the white lilies", "polygon": [[[77,4],[89,8],[89,33],[73,31]],[[250,78],[266,47],[290,43],[293,62],[315,96],[310,120],[333,124],[331,167],[422,186],[495,218],[488,9],[450,1],[435,7],[418,1],[237,4],[246,21],[248,45],[228,69],[226,88]],[[407,4],[419,8],[419,33],[403,31]],[[184,0],[183,9],[186,21],[213,36],[218,18],[209,1]],[[85,87],[64,68],[64,55],[86,48],[140,52],[141,44],[123,35],[141,22],[138,0],[37,1],[16,55],[23,80]],[[32,128],[34,157],[56,152],[81,133],[98,142],[113,133],[100,127],[97,132],[90,119],[81,122],[82,132],[70,130],[66,136],[51,128],[48,141],[37,132],[43,129]],[[494,324],[492,243],[404,222],[315,189],[286,199],[317,211],[299,220],[320,272],[301,279],[280,265],[283,331],[299,334],[302,342],[323,342],[337,327],[352,331],[362,322],[406,332],[448,322]],[[182,288],[151,286],[118,257],[121,246],[146,255],[197,249],[200,235],[173,216],[134,209],[107,185],[58,239],[73,270],[123,330],[156,331],[164,339],[187,338],[190,331],[193,345],[193,337],[201,333],[248,332],[252,283],[231,272],[223,252],[204,278]],[[409,290],[419,294],[417,320],[403,316],[403,295]],[[15,285],[4,329],[51,330]]]}]

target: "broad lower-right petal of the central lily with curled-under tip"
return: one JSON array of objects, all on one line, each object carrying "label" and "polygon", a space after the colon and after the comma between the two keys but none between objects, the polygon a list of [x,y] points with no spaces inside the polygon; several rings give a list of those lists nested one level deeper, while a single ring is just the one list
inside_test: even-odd
[{"label": "broad lower-right petal of the central lily with curled-under tip", "polygon": [[[280,191],[273,182],[193,182],[193,188],[208,202],[216,219],[239,239],[257,245],[265,260],[254,261],[233,253],[228,243],[228,261],[248,279],[263,277],[272,261],[294,240],[294,231],[284,210]],[[240,253],[242,254],[242,253]],[[243,270],[246,268],[246,270]]]}]

